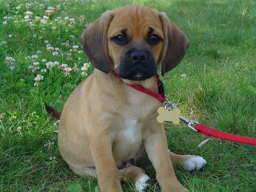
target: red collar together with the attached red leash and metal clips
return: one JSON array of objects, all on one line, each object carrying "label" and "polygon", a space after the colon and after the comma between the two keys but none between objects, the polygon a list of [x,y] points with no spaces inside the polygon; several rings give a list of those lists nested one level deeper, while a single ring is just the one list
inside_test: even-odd
[{"label": "red collar together with the attached red leash and metal clips", "polygon": [[[114,74],[116,75],[117,78],[121,79],[121,77],[118,75],[117,72],[115,72],[114,70],[113,70],[113,72],[114,72]],[[156,75],[156,83],[158,85],[158,90],[161,94],[153,92],[153,91],[151,91],[149,89],[146,89],[146,88],[144,88],[140,85],[137,85],[137,84],[132,84],[132,85],[127,84],[127,83],[126,84],[128,86],[140,91],[140,92],[143,92],[143,93],[146,93],[148,95],[153,96],[154,98],[158,99],[161,103],[163,103],[167,99],[166,99],[166,96],[164,94],[163,83],[160,80],[158,74]],[[161,88],[159,89],[159,87],[161,87]],[[173,109],[176,108],[176,105],[173,102],[169,102],[169,101],[166,104],[164,104],[164,107],[166,109],[168,108],[168,106],[172,106]],[[198,123],[194,120],[185,118],[181,115],[179,116],[179,118],[183,122],[187,123],[188,127],[192,128],[194,131],[196,131],[198,133],[202,133],[202,134],[205,134],[207,136],[212,136],[212,137],[216,137],[216,138],[220,138],[220,139],[224,139],[224,140],[228,140],[228,141],[234,141],[234,142],[244,143],[244,144],[249,144],[249,145],[256,145],[256,139],[254,139],[254,138],[244,137],[244,136],[240,136],[240,135],[234,135],[234,134],[218,131],[218,130],[215,130],[213,128],[207,127],[207,126],[205,126],[201,123]],[[196,124],[195,128],[192,126],[193,124]]]}]

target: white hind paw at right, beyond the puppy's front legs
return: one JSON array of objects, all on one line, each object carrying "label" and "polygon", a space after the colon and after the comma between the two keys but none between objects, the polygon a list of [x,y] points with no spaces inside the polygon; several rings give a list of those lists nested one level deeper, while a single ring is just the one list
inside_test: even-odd
[{"label": "white hind paw at right, beyond the puppy's front legs", "polygon": [[202,157],[192,157],[189,158],[188,160],[186,160],[183,163],[183,167],[186,170],[192,171],[192,170],[200,170],[201,168],[203,168],[204,166],[206,166],[207,162],[206,160],[204,160],[204,158]]}]

